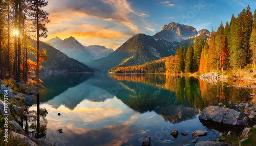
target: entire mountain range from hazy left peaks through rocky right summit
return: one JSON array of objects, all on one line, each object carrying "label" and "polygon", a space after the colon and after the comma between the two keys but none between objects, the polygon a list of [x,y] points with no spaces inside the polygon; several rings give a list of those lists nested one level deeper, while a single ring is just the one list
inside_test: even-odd
[{"label": "entire mountain range from hazy left peaks through rocky right summit", "polygon": [[175,55],[179,46],[187,49],[196,38],[207,40],[209,36],[210,32],[206,29],[197,31],[194,27],[172,22],[164,25],[161,31],[153,36],[137,34],[131,37],[115,51],[100,45],[84,46],[74,37],[64,40],[55,37],[46,43],[70,58],[105,72],[111,68],[139,65]]}]

